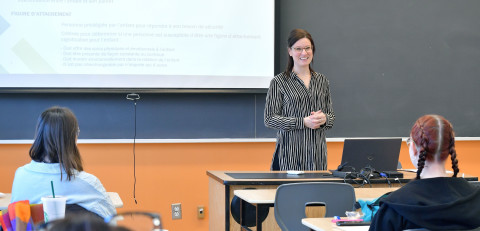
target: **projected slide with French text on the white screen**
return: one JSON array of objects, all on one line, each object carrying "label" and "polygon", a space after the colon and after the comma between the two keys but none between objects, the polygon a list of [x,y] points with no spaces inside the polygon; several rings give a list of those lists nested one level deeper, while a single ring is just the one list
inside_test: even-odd
[{"label": "projected slide with French text on the white screen", "polygon": [[267,88],[274,0],[3,0],[3,88]]}]

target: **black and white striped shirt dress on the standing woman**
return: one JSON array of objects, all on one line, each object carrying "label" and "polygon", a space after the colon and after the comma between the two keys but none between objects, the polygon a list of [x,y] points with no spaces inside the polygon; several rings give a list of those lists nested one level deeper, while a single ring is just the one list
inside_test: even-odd
[{"label": "black and white striped shirt dress on the standing woman", "polygon": [[[322,110],[327,121],[318,129],[304,125],[303,118]],[[325,130],[333,126],[335,114],[327,78],[312,72],[310,88],[291,72],[278,74],[270,82],[264,112],[265,126],[278,129],[275,153],[280,170],[326,170]]]}]

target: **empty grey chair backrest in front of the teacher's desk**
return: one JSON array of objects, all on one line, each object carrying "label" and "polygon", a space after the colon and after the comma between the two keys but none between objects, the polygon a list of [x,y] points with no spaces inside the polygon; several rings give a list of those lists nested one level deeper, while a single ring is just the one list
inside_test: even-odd
[{"label": "empty grey chair backrest in front of the teacher's desk", "polygon": [[333,182],[280,185],[275,195],[275,219],[283,231],[309,230],[302,224],[309,204],[324,204],[326,217],[345,216],[354,210],[355,191],[350,184]]}]

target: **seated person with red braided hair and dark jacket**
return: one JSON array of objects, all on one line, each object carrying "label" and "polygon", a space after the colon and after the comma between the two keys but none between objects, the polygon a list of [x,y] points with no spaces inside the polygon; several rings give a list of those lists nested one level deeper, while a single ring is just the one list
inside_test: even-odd
[{"label": "seated person with red braided hair and dark jacket", "polygon": [[[370,231],[469,230],[480,227],[480,187],[457,178],[452,125],[439,115],[420,117],[407,139],[417,177],[380,202]],[[453,175],[445,162],[450,156]]]}]

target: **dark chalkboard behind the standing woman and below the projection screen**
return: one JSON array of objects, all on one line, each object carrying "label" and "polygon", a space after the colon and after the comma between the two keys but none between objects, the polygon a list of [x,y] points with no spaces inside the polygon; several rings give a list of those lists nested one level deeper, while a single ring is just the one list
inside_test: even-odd
[{"label": "dark chalkboard behind the standing woman and below the projection screen", "polygon": [[[275,73],[286,66],[290,30],[311,32],[313,67],[330,81],[336,115],[327,137],[406,137],[430,113],[449,119],[457,136],[480,137],[480,1],[275,3]],[[137,138],[273,138],[265,92],[140,93]],[[126,93],[1,93],[0,139],[32,139],[52,105],[76,113],[80,138],[133,138]]]}]

